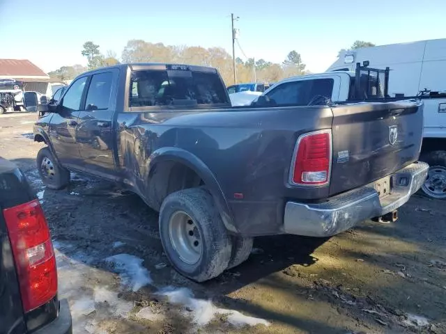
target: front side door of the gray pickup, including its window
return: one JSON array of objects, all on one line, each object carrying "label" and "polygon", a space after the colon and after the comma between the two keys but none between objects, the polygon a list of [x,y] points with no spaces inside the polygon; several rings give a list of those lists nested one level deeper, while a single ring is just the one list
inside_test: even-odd
[{"label": "front side door of the gray pickup, including its window", "polygon": [[80,154],[76,143],[77,118],[83,107],[89,77],[73,81],[51,119],[49,136],[57,158],[63,165],[79,166]]}]

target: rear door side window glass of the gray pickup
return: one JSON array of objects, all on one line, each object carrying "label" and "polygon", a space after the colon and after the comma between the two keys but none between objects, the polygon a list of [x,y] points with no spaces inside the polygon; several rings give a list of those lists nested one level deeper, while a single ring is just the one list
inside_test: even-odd
[{"label": "rear door side window glass of the gray pickup", "polygon": [[112,79],[112,72],[93,75],[90,81],[89,93],[86,95],[86,110],[106,110],[109,108]]}]

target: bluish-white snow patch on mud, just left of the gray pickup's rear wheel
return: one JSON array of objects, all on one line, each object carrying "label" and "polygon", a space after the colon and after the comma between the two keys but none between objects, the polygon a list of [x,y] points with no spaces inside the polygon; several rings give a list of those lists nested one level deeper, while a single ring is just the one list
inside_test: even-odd
[{"label": "bluish-white snow patch on mud, just left of the gray pickup's rear wheel", "polygon": [[114,264],[114,269],[121,277],[121,284],[136,292],[144,285],[152,283],[150,272],[142,267],[144,260],[130,254],[118,254],[107,257],[105,261]]}]

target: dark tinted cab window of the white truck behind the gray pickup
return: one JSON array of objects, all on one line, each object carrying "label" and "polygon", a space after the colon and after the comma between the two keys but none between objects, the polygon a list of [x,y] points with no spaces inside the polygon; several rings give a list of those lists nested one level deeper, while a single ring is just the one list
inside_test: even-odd
[{"label": "dark tinted cab window of the white truck behind the gray pickup", "polygon": [[[328,100],[332,97],[333,79],[310,79],[302,81],[286,82],[276,86],[268,93],[268,97],[274,100],[278,106],[297,105],[306,106],[313,102],[316,97],[326,97]],[[323,99],[321,99],[321,104]],[[317,104],[317,103],[316,103]]]}]

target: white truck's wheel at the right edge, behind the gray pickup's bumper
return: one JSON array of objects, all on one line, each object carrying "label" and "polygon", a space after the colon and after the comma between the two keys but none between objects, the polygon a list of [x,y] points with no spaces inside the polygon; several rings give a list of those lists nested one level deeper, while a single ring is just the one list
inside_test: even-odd
[{"label": "white truck's wheel at the right edge, behind the gray pickup's bumper", "polygon": [[420,161],[429,164],[422,191],[430,198],[446,199],[446,151],[432,151],[422,154]]}]

